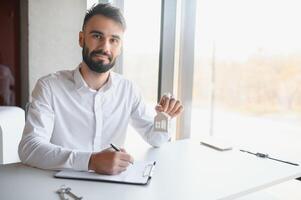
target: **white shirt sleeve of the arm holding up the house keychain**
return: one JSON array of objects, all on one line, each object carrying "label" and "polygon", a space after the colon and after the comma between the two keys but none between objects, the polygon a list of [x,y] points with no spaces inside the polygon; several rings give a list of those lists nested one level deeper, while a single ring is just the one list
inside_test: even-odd
[{"label": "white shirt sleeve of the arm holding up the house keychain", "polygon": [[154,147],[160,147],[170,140],[170,132],[154,131],[154,115],[145,105],[140,91],[132,85],[133,106],[131,112],[131,125],[142,138]]}]

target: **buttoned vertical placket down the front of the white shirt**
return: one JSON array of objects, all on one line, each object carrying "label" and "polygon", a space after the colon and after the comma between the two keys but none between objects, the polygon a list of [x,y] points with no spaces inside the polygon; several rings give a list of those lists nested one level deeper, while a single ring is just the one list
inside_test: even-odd
[{"label": "buttoned vertical placket down the front of the white shirt", "polygon": [[95,133],[93,140],[93,151],[101,150],[101,136],[103,126],[103,111],[102,111],[103,94],[97,93],[94,97],[94,116],[95,116]]}]

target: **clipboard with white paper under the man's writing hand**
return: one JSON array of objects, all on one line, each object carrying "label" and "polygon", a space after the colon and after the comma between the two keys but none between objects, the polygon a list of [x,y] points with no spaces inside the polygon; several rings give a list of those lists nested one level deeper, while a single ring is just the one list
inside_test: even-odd
[{"label": "clipboard with white paper under the man's writing hand", "polygon": [[155,161],[136,161],[129,165],[126,171],[117,175],[102,175],[94,171],[82,172],[73,170],[62,170],[54,174],[55,178],[93,180],[102,182],[147,185],[155,169]]}]

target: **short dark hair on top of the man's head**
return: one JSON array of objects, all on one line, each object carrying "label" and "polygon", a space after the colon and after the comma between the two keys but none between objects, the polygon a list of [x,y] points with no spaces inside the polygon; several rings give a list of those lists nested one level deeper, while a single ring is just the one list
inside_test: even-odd
[{"label": "short dark hair on top of the man's head", "polygon": [[85,29],[87,22],[94,15],[103,15],[107,18],[114,20],[115,22],[118,22],[121,25],[123,30],[125,30],[125,28],[126,28],[125,19],[119,8],[112,6],[110,3],[99,3],[96,5],[93,5],[92,8],[87,10],[85,18],[84,18],[82,30]]}]

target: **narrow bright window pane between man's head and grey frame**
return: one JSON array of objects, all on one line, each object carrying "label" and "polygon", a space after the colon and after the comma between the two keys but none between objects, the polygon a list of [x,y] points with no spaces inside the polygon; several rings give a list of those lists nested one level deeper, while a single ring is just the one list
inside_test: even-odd
[{"label": "narrow bright window pane between man's head and grey frame", "polygon": [[161,1],[124,1],[127,22],[123,48],[123,73],[154,107],[157,100]]}]

